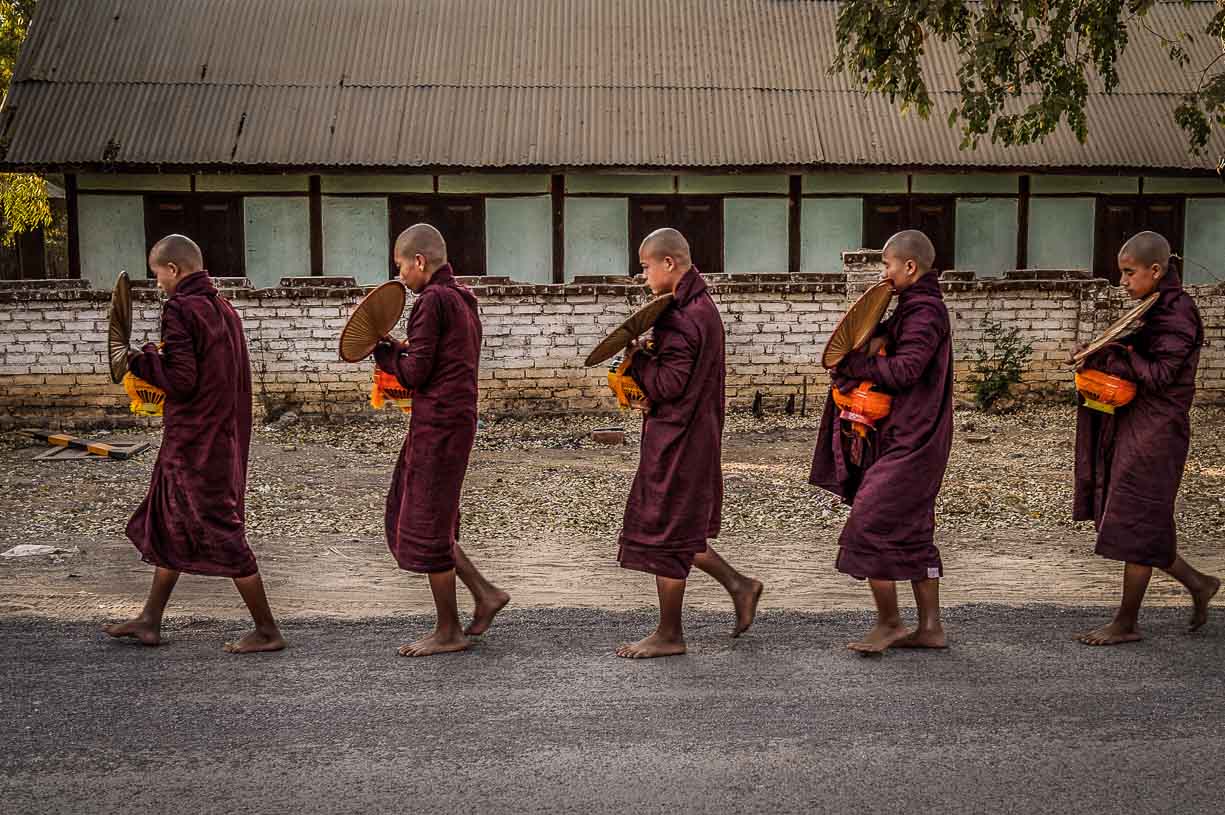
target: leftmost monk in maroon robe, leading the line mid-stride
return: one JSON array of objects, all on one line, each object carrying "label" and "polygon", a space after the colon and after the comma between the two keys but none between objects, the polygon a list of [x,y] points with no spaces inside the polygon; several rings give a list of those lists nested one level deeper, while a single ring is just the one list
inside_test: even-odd
[{"label": "leftmost monk in maroon robe, leading the line mid-stride", "polygon": [[113,637],[162,642],[162,615],[181,572],[232,577],[255,630],[229,653],[281,651],[285,640],[268,608],[246,543],[246,461],[251,446],[251,364],[243,320],[213,288],[190,238],[168,235],[148,256],[165,292],[162,348],[129,352],[134,376],[165,391],[162,449],[148,494],[127,537],[154,566],[140,616],[103,630]]}]

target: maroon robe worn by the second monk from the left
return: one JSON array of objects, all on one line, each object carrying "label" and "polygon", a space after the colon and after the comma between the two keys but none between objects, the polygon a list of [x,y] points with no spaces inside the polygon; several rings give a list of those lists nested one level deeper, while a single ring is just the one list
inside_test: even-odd
[{"label": "maroon robe worn by the second monk from the left", "polygon": [[477,439],[477,298],[440,266],[408,317],[408,343],[380,346],[379,368],[413,392],[408,438],[387,494],[387,547],[401,569],[454,569],[459,494]]}]

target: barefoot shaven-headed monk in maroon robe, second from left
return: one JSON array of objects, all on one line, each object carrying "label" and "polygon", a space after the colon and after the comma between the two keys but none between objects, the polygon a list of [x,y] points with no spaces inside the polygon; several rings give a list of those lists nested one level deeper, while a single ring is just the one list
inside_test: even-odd
[{"label": "barefoot shaven-headed monk in maroon robe, second from left", "polygon": [[[408,438],[387,494],[387,545],[405,571],[429,576],[437,610],[434,632],[399,648],[402,657],[453,653],[484,634],[511,596],[477,571],[459,547],[459,493],[477,439],[477,369],[480,316],[477,298],[456,282],[447,245],[419,223],[396,239],[399,279],[417,293],[408,342],[385,339],[375,362],[413,393]],[[475,601],[463,629],[456,575]]]}]

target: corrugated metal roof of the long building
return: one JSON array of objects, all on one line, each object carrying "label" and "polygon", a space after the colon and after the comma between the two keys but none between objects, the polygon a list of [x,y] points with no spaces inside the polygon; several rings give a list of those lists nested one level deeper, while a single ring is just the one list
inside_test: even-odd
[{"label": "corrugated metal roof of the long building", "polygon": [[[1213,2],[1148,25],[1199,31]],[[1203,168],[1192,82],[1138,31],[1089,143],[959,150],[827,71],[837,4],[785,0],[42,0],[4,118],[10,165]],[[1220,53],[1192,38],[1194,64]],[[925,58],[937,109],[957,54]],[[1225,152],[1225,136],[1213,148]]]}]

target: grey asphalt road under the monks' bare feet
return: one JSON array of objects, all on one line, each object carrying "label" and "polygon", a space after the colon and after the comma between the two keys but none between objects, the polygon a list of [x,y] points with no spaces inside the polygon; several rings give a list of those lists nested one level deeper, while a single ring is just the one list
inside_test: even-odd
[{"label": "grey asphalt road under the monks' bare feet", "polygon": [[294,621],[292,648],[0,620],[0,810],[24,813],[1220,813],[1225,623],[1089,648],[1102,609],[970,605],[954,648],[862,658],[865,613],[693,614],[690,654],[626,662],[642,613],[508,613],[413,661],[420,618]]}]

